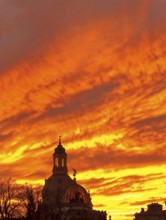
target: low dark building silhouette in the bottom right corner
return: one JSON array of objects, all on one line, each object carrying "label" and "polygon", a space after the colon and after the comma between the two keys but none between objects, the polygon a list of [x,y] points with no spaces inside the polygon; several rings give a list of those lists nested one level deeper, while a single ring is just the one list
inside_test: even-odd
[{"label": "low dark building silhouette in the bottom right corner", "polygon": [[166,211],[158,203],[148,205],[147,211],[144,208],[139,213],[135,213],[134,220],[166,220]]}]

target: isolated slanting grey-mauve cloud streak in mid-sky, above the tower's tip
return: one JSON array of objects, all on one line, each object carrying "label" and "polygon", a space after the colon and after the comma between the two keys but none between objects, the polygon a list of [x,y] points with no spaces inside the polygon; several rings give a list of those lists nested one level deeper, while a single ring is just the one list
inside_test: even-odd
[{"label": "isolated slanting grey-mauve cloud streak in mid-sky, above the tower's tip", "polygon": [[[32,119],[31,122],[35,123],[43,119],[65,117],[65,115],[69,119],[70,115],[73,117],[73,112],[75,112],[74,117],[76,117],[76,115],[82,115],[87,112],[88,108],[95,108],[96,105],[103,102],[107,93],[110,93],[117,87],[117,83],[108,82],[73,95],[66,103],[62,103],[61,100],[59,100],[62,107],[47,107],[42,115]],[[51,105],[53,104],[54,103]]]}]

